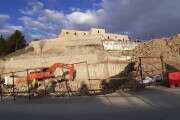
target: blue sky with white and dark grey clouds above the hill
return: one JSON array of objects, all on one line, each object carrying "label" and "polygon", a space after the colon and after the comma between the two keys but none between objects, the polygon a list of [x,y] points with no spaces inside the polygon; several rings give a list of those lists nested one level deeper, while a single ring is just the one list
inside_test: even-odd
[{"label": "blue sky with white and dark grey clouds above the hill", "polygon": [[152,39],[180,33],[180,0],[1,0],[0,34],[21,30],[28,40],[55,38],[61,29]]}]

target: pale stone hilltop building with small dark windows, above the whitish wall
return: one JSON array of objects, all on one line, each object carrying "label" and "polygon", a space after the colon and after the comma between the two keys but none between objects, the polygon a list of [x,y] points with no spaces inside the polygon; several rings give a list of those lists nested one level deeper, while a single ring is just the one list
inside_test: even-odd
[{"label": "pale stone hilltop building with small dark windows, above the whitish wall", "polygon": [[77,31],[63,29],[58,38],[33,41],[30,46],[35,53],[47,51],[63,51],[66,46],[102,45],[104,40],[114,40],[126,43],[127,35],[106,33],[105,29],[91,28],[90,31]]}]

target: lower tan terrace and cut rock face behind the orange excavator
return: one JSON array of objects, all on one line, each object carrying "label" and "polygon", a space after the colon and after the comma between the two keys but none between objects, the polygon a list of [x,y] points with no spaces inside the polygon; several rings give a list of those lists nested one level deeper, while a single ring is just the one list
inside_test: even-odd
[{"label": "lower tan terrace and cut rock face behind the orange excavator", "polygon": [[[91,89],[99,89],[101,87],[101,81],[107,79],[110,76],[114,76],[121,71],[128,63],[119,63],[118,58],[108,57],[107,59],[100,59],[97,54],[89,55],[72,55],[72,56],[56,56],[56,57],[36,57],[26,59],[9,59],[1,62],[1,68],[3,73],[15,72],[15,75],[19,76],[23,81],[26,80],[27,73],[16,71],[23,71],[27,68],[48,67],[54,63],[76,63],[76,78],[70,82],[72,90],[80,88],[81,84],[87,84]],[[86,62],[87,61],[87,62]],[[113,62],[114,61],[114,62]],[[82,63],[79,63],[82,62]],[[9,76],[10,74],[3,74],[3,76]],[[89,80],[92,79],[92,80]]]}]

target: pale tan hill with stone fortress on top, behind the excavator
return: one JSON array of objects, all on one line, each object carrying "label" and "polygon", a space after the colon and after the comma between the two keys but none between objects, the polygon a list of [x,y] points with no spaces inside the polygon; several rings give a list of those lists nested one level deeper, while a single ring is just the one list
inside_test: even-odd
[{"label": "pale tan hill with stone fortress on top, behind the excavator", "polygon": [[[131,42],[127,35],[106,33],[104,29],[62,30],[58,38],[32,41],[25,51],[30,48],[33,51],[2,60],[1,72],[45,67],[54,63],[84,62],[75,65],[78,81],[106,79],[124,69],[136,46],[137,43]],[[26,76],[26,73],[19,75]]]}]

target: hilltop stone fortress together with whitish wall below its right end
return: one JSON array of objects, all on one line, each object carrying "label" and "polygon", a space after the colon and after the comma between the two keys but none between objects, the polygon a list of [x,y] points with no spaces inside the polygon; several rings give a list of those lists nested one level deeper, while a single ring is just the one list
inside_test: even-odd
[{"label": "hilltop stone fortress together with whitish wall below its right end", "polygon": [[[113,41],[113,42],[112,42]],[[119,44],[120,43],[120,44]],[[32,46],[36,53],[49,52],[52,49],[62,51],[65,48],[74,48],[88,45],[103,45],[108,50],[130,50],[134,45],[129,41],[127,35],[106,33],[105,29],[91,28],[90,31],[77,31],[63,29],[55,39],[33,41]],[[116,44],[116,45],[115,45]]]}]

